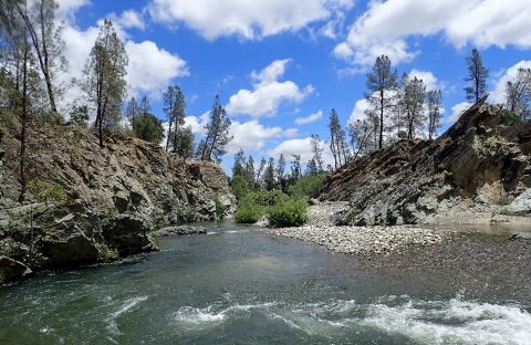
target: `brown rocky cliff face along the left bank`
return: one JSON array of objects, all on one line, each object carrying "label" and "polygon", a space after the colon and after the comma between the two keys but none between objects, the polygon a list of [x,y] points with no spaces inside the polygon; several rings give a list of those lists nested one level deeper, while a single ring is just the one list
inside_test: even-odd
[{"label": "brown rocky cliff face along the left bank", "polygon": [[216,199],[225,216],[236,210],[219,166],[184,161],[158,145],[111,134],[101,149],[94,133],[70,126],[30,133],[27,159],[28,180],[61,186],[64,200],[42,197],[45,188],[38,185],[20,206],[12,201],[20,191],[20,140],[6,134],[0,147],[3,266],[17,266],[15,260],[41,270],[149,251],[156,249],[149,230],[215,219]]}]

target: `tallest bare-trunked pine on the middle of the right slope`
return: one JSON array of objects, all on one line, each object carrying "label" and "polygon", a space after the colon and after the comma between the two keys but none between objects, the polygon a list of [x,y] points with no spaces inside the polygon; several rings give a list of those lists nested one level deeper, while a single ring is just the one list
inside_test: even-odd
[{"label": "tallest bare-trunked pine on the middle of the right slope", "polygon": [[371,93],[365,93],[365,98],[378,115],[378,149],[384,143],[384,119],[393,108],[392,91],[397,88],[397,71],[391,71],[391,61],[386,55],[378,56],[373,66],[373,72],[367,74],[366,86]]}]

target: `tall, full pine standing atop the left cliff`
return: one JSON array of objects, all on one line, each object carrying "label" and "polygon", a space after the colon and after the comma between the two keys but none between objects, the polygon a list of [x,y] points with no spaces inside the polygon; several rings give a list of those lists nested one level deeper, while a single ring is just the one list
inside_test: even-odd
[{"label": "tall, full pine standing atop the left cliff", "polygon": [[113,23],[105,20],[83,70],[82,90],[96,113],[100,147],[103,128],[119,123],[119,109],[124,103],[127,83],[127,52]]}]

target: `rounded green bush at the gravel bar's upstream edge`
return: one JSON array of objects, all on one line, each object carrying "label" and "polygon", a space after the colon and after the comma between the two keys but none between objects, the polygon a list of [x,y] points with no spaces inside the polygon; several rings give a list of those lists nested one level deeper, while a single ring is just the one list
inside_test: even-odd
[{"label": "rounded green bush at the gravel bar's upstream edge", "polygon": [[273,227],[298,227],[308,221],[308,205],[303,199],[284,197],[266,211]]}]

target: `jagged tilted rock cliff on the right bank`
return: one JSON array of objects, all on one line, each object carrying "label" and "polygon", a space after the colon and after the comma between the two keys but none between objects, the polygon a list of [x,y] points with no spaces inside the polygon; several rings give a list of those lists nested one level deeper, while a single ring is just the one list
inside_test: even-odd
[{"label": "jagged tilted rock cliff on the right bank", "polygon": [[340,222],[355,224],[500,211],[498,203],[531,187],[531,122],[506,126],[501,108],[485,101],[436,140],[402,140],[339,169],[324,180],[321,199],[350,201]]}]

